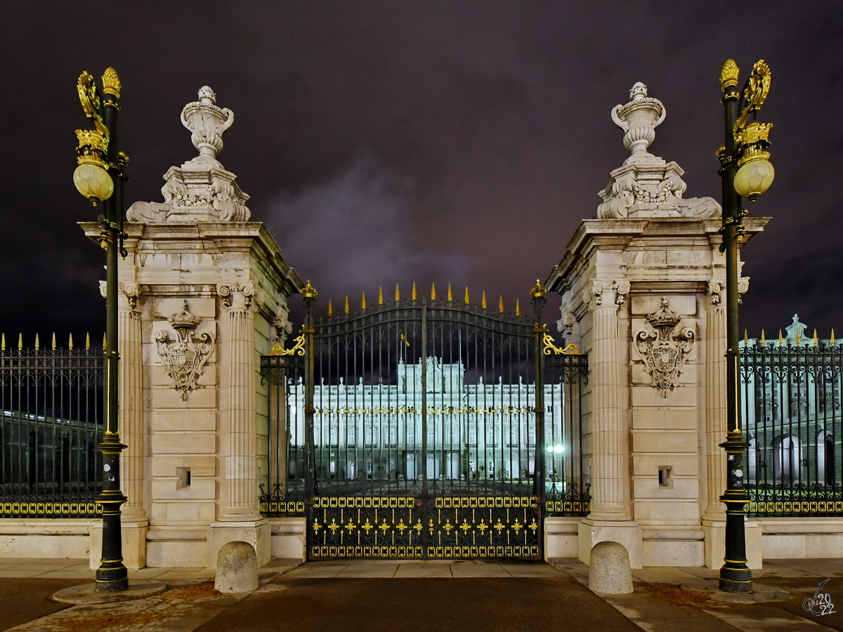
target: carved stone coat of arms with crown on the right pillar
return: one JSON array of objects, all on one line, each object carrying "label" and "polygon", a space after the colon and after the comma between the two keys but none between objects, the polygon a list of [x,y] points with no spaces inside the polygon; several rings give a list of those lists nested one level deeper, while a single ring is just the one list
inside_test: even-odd
[{"label": "carved stone coat of arms with crown on the right pillar", "polygon": [[647,322],[657,333],[642,330],[633,338],[636,352],[652,376],[652,387],[658,388],[662,397],[667,397],[668,390],[677,386],[682,367],[694,347],[692,329],[680,329],[674,336],[680,320],[679,314],[670,309],[667,297],[662,297],[662,307],[647,314]]}]

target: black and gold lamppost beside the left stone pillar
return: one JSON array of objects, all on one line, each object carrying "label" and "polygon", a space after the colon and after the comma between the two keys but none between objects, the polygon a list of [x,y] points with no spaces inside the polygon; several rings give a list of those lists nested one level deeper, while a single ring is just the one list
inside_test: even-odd
[{"label": "black and gold lamppost beside the left stone pillar", "polygon": [[126,566],[123,565],[123,543],[120,506],[126,496],[120,489],[120,442],[118,420],[117,353],[117,253],[123,249],[123,181],[128,158],[117,151],[117,114],[120,106],[120,78],[114,68],[102,76],[102,90],[94,78],[83,72],[78,80],[79,100],[85,115],[94,121],[93,130],[77,130],[79,141],[78,167],[73,172],[73,184],[94,206],[102,203],[105,212],[99,217],[103,224],[97,241],[106,250],[105,281],[105,437],[99,443],[103,453],[103,490],[97,498],[103,507],[103,546],[96,590],[125,591],[129,587]]}]

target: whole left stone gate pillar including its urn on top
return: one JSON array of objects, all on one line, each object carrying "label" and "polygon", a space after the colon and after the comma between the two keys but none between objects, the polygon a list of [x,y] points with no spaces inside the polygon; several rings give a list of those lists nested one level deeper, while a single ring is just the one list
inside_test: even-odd
[{"label": "whole left stone gate pillar including its urn on top", "polygon": [[[215,101],[206,86],[185,105],[199,155],[164,175],[164,203],[126,213],[124,546],[134,528],[140,565],[145,555],[149,566],[213,568],[234,540],[252,544],[260,563],[271,554],[258,506],[268,467],[260,356],[303,284],[216,158],[234,114]],[[99,234],[98,224],[83,228]]]}]

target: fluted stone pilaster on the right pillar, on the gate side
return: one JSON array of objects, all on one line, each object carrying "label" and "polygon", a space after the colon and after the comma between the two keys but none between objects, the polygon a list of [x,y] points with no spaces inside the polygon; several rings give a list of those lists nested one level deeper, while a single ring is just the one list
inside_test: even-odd
[{"label": "fluted stone pilaster on the right pillar, on the gate side", "polygon": [[593,318],[592,501],[591,520],[626,521],[625,475],[629,470],[626,427],[626,367],[621,362],[618,306],[629,292],[626,281],[592,281],[588,306]]}]

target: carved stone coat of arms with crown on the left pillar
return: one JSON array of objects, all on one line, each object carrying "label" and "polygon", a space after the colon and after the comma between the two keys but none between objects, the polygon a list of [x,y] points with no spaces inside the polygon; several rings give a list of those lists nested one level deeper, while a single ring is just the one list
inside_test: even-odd
[{"label": "carved stone coat of arms with crown on the left pillar", "polygon": [[202,367],[211,351],[213,340],[208,334],[196,334],[196,327],[201,323],[199,316],[194,316],[187,309],[187,301],[182,303],[181,312],[172,314],[168,319],[175,329],[176,340],[169,340],[166,331],[155,333],[155,345],[158,356],[164,362],[164,370],[173,380],[172,387],[181,391],[181,399],[187,400],[187,394],[196,388],[196,379],[202,373]]}]

